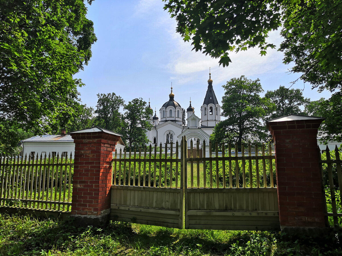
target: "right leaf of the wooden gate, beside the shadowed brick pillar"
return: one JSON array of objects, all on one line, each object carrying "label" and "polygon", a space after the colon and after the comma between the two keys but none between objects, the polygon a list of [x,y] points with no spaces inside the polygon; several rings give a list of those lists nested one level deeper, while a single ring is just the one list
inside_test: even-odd
[{"label": "right leaf of the wooden gate, beside the shadowed brick pillar", "polygon": [[[190,141],[190,147],[192,147]],[[203,142],[205,146],[205,142]],[[184,162],[189,165],[185,172],[185,228],[226,230],[274,230],[279,229],[278,197],[274,187],[271,146],[261,156],[256,145],[252,153],[248,145],[245,156],[244,145],[238,153],[237,144],[232,156],[228,144],[228,156],[218,156],[218,144],[212,157],[190,156]],[[225,145],[221,145],[225,152]],[[198,152],[198,150],[197,150]],[[253,156],[252,156],[253,154]],[[267,161],[267,163],[266,163]],[[200,172],[200,162],[203,170]],[[194,165],[196,172],[194,173]],[[262,173],[260,171],[262,170]],[[195,180],[195,185],[194,185]]]}]

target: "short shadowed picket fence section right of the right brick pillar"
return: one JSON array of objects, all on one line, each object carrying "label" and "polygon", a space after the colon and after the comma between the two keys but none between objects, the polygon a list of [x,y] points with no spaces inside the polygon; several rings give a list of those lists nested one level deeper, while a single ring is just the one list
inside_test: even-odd
[{"label": "short shadowed picket fence section right of the right brick pillar", "polygon": [[[319,150],[319,148],[318,148]],[[334,151],[328,146],[321,155],[321,170],[326,196],[326,216],[331,226],[342,226],[342,159],[337,145]]]}]

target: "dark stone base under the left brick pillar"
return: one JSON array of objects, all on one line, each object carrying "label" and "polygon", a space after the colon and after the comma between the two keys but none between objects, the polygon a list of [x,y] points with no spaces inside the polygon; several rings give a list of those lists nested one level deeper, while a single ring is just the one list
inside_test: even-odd
[{"label": "dark stone base under the left brick pillar", "polygon": [[79,215],[73,214],[70,220],[75,227],[98,227],[105,228],[109,223],[110,209],[103,210],[100,215]]}]

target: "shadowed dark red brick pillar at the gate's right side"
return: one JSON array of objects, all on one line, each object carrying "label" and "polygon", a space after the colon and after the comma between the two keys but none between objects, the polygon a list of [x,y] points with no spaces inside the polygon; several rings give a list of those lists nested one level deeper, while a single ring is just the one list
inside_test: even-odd
[{"label": "shadowed dark red brick pillar at the gate's right side", "polygon": [[281,229],[325,227],[317,150],[317,129],[323,120],[289,115],[267,122],[274,140]]}]

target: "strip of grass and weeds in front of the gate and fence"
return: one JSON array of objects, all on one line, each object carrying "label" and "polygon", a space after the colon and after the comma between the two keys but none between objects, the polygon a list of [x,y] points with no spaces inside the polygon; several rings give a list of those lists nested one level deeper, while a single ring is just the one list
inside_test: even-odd
[{"label": "strip of grass and weeds in front of the gate and fence", "polygon": [[[342,239],[340,233],[340,239]],[[180,230],[111,222],[105,229],[0,214],[0,255],[342,255],[338,236]]]}]

